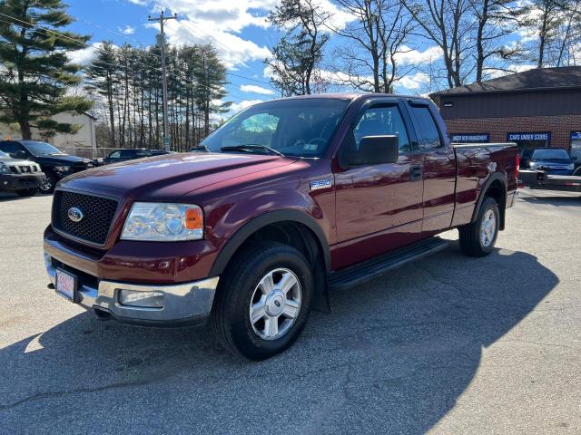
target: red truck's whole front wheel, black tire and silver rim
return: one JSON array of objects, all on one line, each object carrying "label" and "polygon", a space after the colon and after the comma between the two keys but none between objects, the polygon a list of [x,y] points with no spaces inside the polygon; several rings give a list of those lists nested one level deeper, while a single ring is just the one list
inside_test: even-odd
[{"label": "red truck's whole front wheel, black tire and silver rim", "polygon": [[[269,275],[274,285],[268,285]],[[283,278],[289,285],[296,280],[287,285],[287,292],[279,287]],[[243,247],[222,274],[212,308],[212,332],[232,353],[257,361],[269,358],[299,337],[313,291],[312,270],[297,249],[274,242]],[[258,319],[254,323],[251,313]]]}]

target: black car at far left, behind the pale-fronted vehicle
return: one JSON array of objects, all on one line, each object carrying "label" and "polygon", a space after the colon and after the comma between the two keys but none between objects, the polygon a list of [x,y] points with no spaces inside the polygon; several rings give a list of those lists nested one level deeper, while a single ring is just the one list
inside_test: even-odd
[{"label": "black car at far left, behind the pale-fronted vehicle", "polygon": [[35,140],[3,140],[0,141],[0,150],[15,159],[38,163],[46,175],[40,186],[44,193],[51,193],[59,179],[94,167],[92,160],[69,156],[49,143]]}]

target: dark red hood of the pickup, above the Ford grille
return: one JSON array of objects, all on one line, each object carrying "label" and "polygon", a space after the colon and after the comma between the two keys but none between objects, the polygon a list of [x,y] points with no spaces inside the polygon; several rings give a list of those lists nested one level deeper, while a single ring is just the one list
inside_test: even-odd
[{"label": "dark red hood of the pickup, above the Ford grille", "polygon": [[297,159],[226,153],[182,153],[84,170],[59,187],[139,200],[171,200],[219,181],[289,165]]}]

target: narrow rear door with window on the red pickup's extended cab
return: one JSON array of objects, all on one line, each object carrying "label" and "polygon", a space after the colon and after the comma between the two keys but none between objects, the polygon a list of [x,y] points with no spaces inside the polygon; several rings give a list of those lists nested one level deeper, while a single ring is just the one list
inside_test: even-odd
[{"label": "narrow rear door with window on the red pickup's extended cab", "polygon": [[438,112],[425,100],[410,100],[409,111],[423,155],[424,233],[450,227],[456,202],[456,157],[443,131]]}]

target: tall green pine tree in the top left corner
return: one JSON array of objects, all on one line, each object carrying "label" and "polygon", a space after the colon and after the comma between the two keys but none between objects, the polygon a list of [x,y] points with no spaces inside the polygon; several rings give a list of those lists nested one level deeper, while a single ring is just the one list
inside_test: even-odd
[{"label": "tall green pine tree in the top left corner", "polygon": [[72,133],[78,126],[51,116],[92,105],[66,95],[81,80],[67,53],[89,37],[62,30],[73,22],[65,7],[61,0],[0,1],[0,122],[17,123],[23,139],[31,139],[32,128],[44,136]]}]

